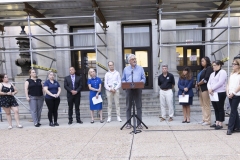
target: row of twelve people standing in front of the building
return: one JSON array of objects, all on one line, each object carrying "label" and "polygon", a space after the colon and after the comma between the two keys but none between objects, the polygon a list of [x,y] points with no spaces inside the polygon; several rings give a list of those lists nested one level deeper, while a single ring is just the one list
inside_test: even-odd
[{"label": "row of twelve people standing in front of the building", "polygon": [[[108,62],[109,71],[105,74],[104,87],[108,100],[108,119],[112,120],[112,100],[114,99],[116,106],[117,120],[121,122],[120,106],[119,106],[119,89],[122,82],[142,82],[145,83],[145,73],[141,66],[137,65],[134,54],[128,56],[129,65],[124,68],[122,78],[120,73],[114,69],[114,62]],[[208,57],[201,59],[203,69],[198,73],[195,88],[199,93],[200,106],[202,108],[201,125],[210,125],[215,129],[223,128],[225,120],[224,102],[226,97],[229,99],[231,113],[228,123],[227,135],[233,132],[240,132],[240,123],[238,115],[238,105],[240,102],[240,57],[235,57],[232,63],[232,73],[227,79],[227,73],[222,69],[223,62],[216,60],[212,63]],[[74,67],[69,69],[70,75],[64,79],[64,88],[67,91],[68,101],[68,124],[73,123],[73,106],[75,106],[76,121],[82,124],[80,118],[80,98],[82,90],[81,77],[75,74]],[[100,123],[103,123],[102,103],[93,103],[93,98],[101,97],[102,81],[96,75],[96,71],[89,69],[88,87],[90,90],[89,101],[91,111],[91,123],[94,123],[94,110],[98,110],[100,114]],[[228,81],[228,82],[227,82]],[[189,67],[185,67],[180,74],[178,81],[178,95],[188,95],[188,102],[180,103],[183,108],[182,123],[190,123],[190,106],[193,103],[193,84],[194,78]],[[173,89],[175,79],[173,74],[168,72],[168,65],[162,65],[162,74],[158,77],[158,85],[160,87],[160,107],[161,107],[161,122],[167,118],[166,108],[169,108],[169,119],[173,121]],[[14,98],[17,93],[16,88],[8,81],[6,74],[0,74],[0,106],[6,112],[6,117],[9,123],[9,129],[12,128],[11,110],[14,112],[14,117],[17,122],[17,127],[23,126],[19,122],[18,103]],[[48,107],[49,126],[59,126],[58,106],[60,104],[61,87],[58,81],[54,79],[54,73],[48,72],[48,79],[43,83],[37,78],[34,69],[29,71],[29,79],[25,82],[25,95],[29,102],[31,116],[35,127],[41,126],[41,112],[44,100]],[[217,95],[216,95],[217,94]],[[210,100],[211,96],[217,96],[218,100]],[[215,123],[211,125],[211,107],[215,112]],[[126,90],[126,117],[130,119],[133,103],[136,104],[137,116],[142,120],[142,89],[127,89]],[[141,121],[137,121],[137,127],[142,129]],[[126,125],[126,128],[132,127],[131,121]]]}]

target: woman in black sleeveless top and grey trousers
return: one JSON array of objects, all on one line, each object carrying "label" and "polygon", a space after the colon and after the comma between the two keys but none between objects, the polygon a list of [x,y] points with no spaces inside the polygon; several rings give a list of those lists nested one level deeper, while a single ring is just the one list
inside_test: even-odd
[{"label": "woman in black sleeveless top and grey trousers", "polygon": [[41,113],[44,102],[42,80],[37,78],[34,69],[29,70],[29,79],[25,82],[25,95],[29,102],[30,111],[35,127],[41,126]]}]

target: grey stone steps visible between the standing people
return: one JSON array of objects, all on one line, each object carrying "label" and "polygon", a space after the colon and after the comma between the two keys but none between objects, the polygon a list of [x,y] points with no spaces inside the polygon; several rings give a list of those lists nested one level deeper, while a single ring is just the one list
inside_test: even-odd
[{"label": "grey stone steps visible between the standing people", "polygon": [[[89,92],[82,92],[81,104],[80,104],[80,113],[81,118],[90,118],[90,110],[89,110]],[[28,102],[24,97],[18,97],[21,102],[29,108]],[[19,103],[19,114],[22,119],[31,119],[30,112],[20,103]],[[142,114],[143,116],[159,116],[160,115],[160,102],[158,93],[153,92],[153,90],[143,90],[142,93]],[[121,108],[121,116],[126,116],[126,98],[125,92],[121,92],[120,94],[120,108]],[[48,109],[46,104],[44,103],[42,110],[42,118],[47,118]],[[61,102],[58,109],[59,118],[68,117],[68,105],[67,98],[65,96],[61,96]],[[193,98],[193,105],[191,106],[191,114],[201,113],[201,108],[199,104],[198,97]],[[96,115],[97,113],[95,113]],[[178,96],[175,96],[175,115],[182,115],[182,106],[179,105]],[[103,99],[103,116],[107,117],[107,99]],[[116,117],[116,110],[113,104],[112,116]],[[5,114],[3,112],[3,117],[5,118]],[[74,113],[75,117],[75,113]]]}]

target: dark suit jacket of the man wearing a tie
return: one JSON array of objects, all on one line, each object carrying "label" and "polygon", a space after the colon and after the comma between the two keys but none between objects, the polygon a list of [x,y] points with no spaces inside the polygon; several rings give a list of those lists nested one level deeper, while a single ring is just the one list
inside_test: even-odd
[{"label": "dark suit jacket of the man wearing a tie", "polygon": [[[77,91],[77,94],[75,96],[81,96],[81,90],[82,90],[82,82],[81,82],[81,77],[75,75],[75,91]],[[71,76],[67,76],[64,78],[64,88],[67,90],[67,97],[73,96],[71,93],[71,90],[73,90],[72,86],[72,79]]]}]

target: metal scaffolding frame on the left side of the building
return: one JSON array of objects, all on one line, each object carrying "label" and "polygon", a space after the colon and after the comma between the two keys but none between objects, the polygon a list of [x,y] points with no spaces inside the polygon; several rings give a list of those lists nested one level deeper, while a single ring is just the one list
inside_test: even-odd
[{"label": "metal scaffolding frame on the left side of the building", "polygon": [[[49,30],[47,30],[46,28],[44,28],[43,26],[39,25],[38,23],[36,23],[35,21],[39,21],[39,20],[54,20],[54,19],[80,19],[80,18],[93,18],[93,23],[94,23],[94,32],[85,32],[85,33],[81,33],[81,32],[68,32],[68,33],[54,33],[51,32]],[[105,65],[107,64],[107,59],[108,59],[108,52],[107,52],[107,32],[106,29],[103,28],[103,26],[97,22],[97,16],[96,16],[96,11],[94,10],[93,15],[90,16],[71,16],[71,17],[45,17],[45,18],[31,18],[30,15],[27,16],[26,19],[0,19],[0,22],[12,22],[12,21],[27,21],[28,23],[28,34],[26,35],[4,35],[2,33],[2,35],[0,35],[0,38],[2,38],[2,48],[0,48],[0,53],[3,54],[3,59],[0,60],[0,65],[2,65],[3,63],[5,64],[5,73],[7,74],[7,66],[6,66],[6,53],[21,53],[21,52],[29,52],[30,53],[30,59],[31,59],[31,68],[36,68],[36,69],[42,69],[44,67],[39,67],[37,65],[35,65],[33,62],[33,54],[36,54],[38,56],[42,56],[45,57],[47,59],[51,60],[50,63],[50,67],[49,69],[52,69],[52,65],[55,62],[55,67],[57,69],[57,59],[56,58],[52,58],[44,53],[39,53],[39,52],[54,52],[54,56],[57,56],[57,51],[77,51],[77,50],[94,50],[95,54],[96,54],[96,69],[98,71],[99,68],[102,68],[104,70],[108,70],[107,67],[105,67]],[[48,34],[33,34],[31,31],[31,23],[35,24],[36,26],[40,27],[41,29],[43,29],[44,31],[46,31]],[[99,24],[99,26],[101,27],[101,29],[103,30],[103,32],[98,32],[97,31],[97,24]],[[93,34],[94,35],[94,46],[88,46],[88,47],[84,47],[84,46],[67,46],[67,47],[62,47],[62,46],[57,46],[56,44],[56,36],[74,36],[74,35],[83,35],[83,34]],[[103,36],[104,35],[104,38]],[[39,37],[48,37],[48,36],[52,36],[53,38],[53,44],[47,43],[43,40],[41,40]],[[29,48],[26,48],[24,51],[19,51],[19,48],[5,48],[5,43],[4,43],[4,38],[10,38],[10,37],[26,37],[29,38]],[[39,42],[44,43],[45,45],[47,45],[48,47],[33,47],[33,42],[32,39],[35,39]],[[103,45],[99,45],[98,41],[100,41]],[[50,47],[50,48],[49,48]],[[105,54],[103,53],[102,50],[100,50],[101,48],[105,47]],[[100,53],[100,54],[99,54]],[[106,62],[105,64],[101,64],[99,62],[99,59],[105,58]],[[45,69],[46,70],[46,69]],[[56,71],[57,72],[57,71]],[[98,74],[98,72],[97,72]],[[58,76],[56,76],[57,78]],[[13,83],[20,83],[20,84],[24,84],[24,82],[13,82]],[[30,111],[30,109],[24,105],[24,103],[21,101],[21,99],[25,99],[25,97],[17,97],[15,96],[15,98],[17,99],[17,101],[19,101],[28,111]],[[0,111],[0,118],[2,118],[2,112]]]}]

